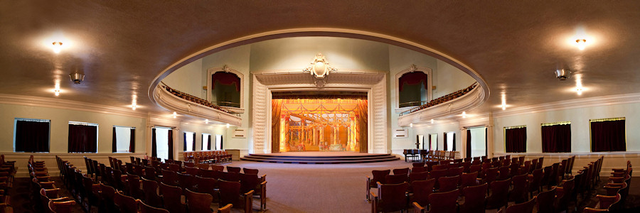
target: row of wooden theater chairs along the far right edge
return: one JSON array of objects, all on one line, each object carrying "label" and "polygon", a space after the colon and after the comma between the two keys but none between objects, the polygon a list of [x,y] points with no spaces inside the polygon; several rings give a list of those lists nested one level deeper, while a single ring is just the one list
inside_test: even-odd
[{"label": "row of wooden theater chairs along the far right edge", "polygon": [[[584,170],[589,170],[590,167],[585,167]],[[594,207],[585,207],[582,212],[615,212],[622,210],[626,197],[629,196],[632,173],[633,167],[631,166],[631,161],[626,162],[626,168],[614,168],[611,176],[609,176],[609,182],[604,185],[607,194],[596,195],[598,199],[597,204]]]}]

